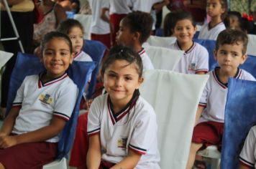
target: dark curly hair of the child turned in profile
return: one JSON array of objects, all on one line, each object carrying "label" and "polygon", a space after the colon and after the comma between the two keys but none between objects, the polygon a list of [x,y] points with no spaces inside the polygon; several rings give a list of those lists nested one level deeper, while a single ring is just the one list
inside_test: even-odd
[{"label": "dark curly hair of the child turned in profile", "polygon": [[129,26],[132,33],[140,33],[140,44],[143,44],[150,37],[153,18],[150,14],[142,11],[133,11],[124,17],[123,23]]}]

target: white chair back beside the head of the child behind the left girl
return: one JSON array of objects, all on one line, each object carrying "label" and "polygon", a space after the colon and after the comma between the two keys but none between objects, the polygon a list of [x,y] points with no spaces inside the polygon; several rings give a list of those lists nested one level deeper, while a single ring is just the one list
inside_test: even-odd
[{"label": "white chair back beside the head of the child behind the left girl", "polygon": [[88,14],[75,14],[74,19],[83,24],[83,39],[91,39],[91,19],[92,16]]}]

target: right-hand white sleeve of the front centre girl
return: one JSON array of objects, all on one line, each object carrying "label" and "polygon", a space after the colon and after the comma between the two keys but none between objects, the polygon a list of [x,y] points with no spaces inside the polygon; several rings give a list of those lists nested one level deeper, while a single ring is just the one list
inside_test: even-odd
[{"label": "right-hand white sleeve of the front centre girl", "polygon": [[129,148],[135,152],[145,155],[150,145],[156,144],[157,140],[157,122],[155,112],[152,109],[140,112],[137,124],[132,132],[132,138]]}]

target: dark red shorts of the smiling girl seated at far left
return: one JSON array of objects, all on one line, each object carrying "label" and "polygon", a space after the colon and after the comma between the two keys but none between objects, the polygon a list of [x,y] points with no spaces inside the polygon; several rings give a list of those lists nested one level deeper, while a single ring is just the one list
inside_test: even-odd
[{"label": "dark red shorts of the smiling girl seated at far left", "polygon": [[57,154],[58,143],[23,143],[0,149],[0,163],[6,169],[41,169],[42,165],[55,160]]}]

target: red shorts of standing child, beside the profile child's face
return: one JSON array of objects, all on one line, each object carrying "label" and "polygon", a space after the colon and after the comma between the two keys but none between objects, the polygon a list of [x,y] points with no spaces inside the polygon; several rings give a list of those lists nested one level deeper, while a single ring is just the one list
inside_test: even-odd
[{"label": "red shorts of standing child, beside the profile child's face", "polygon": [[113,25],[113,32],[111,32],[113,46],[116,44],[116,33],[119,31],[119,23],[125,16],[127,16],[127,14],[111,14],[109,16],[109,21]]}]

